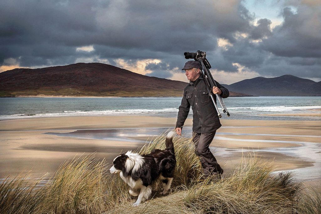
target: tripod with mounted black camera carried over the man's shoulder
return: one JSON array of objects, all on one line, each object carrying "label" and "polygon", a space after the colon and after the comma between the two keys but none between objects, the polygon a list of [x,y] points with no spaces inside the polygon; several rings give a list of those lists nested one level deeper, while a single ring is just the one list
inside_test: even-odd
[{"label": "tripod with mounted black camera carried over the man's shoulder", "polygon": [[[205,85],[206,85],[206,89],[208,90],[208,94],[211,97],[214,107],[217,111],[217,115],[221,118],[221,113],[219,111],[219,109],[217,108],[217,105],[215,103],[214,97],[213,97],[213,87],[217,87],[215,80],[213,79],[213,76],[210,72],[210,68],[211,68],[211,64],[208,62],[208,60],[206,59],[206,53],[203,51],[196,51],[196,53],[193,52],[185,52],[185,59],[194,59],[195,61],[198,61],[201,64],[201,71],[202,71],[202,75],[205,81]],[[217,100],[219,101],[221,108],[223,110],[223,113],[226,113],[226,115],[229,117],[230,113],[227,111],[226,106],[221,98],[220,95],[215,94]]]}]

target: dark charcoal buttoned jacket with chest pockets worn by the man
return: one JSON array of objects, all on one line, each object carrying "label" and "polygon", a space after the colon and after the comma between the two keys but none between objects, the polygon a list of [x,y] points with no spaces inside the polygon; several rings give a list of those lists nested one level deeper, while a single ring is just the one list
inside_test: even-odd
[{"label": "dark charcoal buttoned jacket with chest pockets worn by the man", "polygon": [[[221,97],[227,98],[229,90],[221,86],[217,81],[217,87],[222,91]],[[215,103],[216,95],[213,94]],[[210,133],[221,127],[220,119],[214,107],[212,99],[208,96],[208,90],[201,75],[196,81],[190,83],[184,89],[181,105],[178,108],[178,116],[175,128],[181,128],[188,116],[192,106],[193,110],[193,131],[196,133]]]}]

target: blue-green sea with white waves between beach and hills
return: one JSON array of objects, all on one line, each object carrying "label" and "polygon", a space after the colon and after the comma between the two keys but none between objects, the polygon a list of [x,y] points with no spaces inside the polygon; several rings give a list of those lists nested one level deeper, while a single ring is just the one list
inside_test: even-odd
[{"label": "blue-green sea with white waves between beach and hills", "polygon": [[[320,120],[321,97],[230,97],[223,99],[230,117],[243,120]],[[98,115],[176,117],[180,97],[135,98],[0,98],[0,120]],[[219,110],[221,110],[218,104]],[[273,116],[273,114],[307,116]],[[270,115],[269,115],[270,114]],[[272,114],[272,115],[271,115]],[[311,116],[310,116],[311,114]],[[316,116],[318,114],[319,116]],[[192,109],[188,117],[192,117]]]}]

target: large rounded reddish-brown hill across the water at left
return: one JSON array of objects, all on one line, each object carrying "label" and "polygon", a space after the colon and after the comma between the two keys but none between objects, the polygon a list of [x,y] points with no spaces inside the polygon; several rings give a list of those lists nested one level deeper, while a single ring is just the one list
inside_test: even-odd
[{"label": "large rounded reddish-brown hill across the water at left", "polygon": [[[102,63],[77,63],[0,73],[0,96],[182,96],[187,83],[134,73]],[[233,93],[231,96],[247,96]]]}]

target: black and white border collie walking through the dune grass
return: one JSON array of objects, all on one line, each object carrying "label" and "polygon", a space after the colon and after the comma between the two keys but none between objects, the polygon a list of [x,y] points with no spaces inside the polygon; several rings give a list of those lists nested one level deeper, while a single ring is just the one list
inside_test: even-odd
[{"label": "black and white border collie walking through the dune grass", "polygon": [[172,184],[176,166],[173,137],[169,132],[166,137],[165,150],[154,150],[150,154],[140,155],[128,151],[117,156],[113,161],[110,173],[120,173],[120,177],[129,185],[129,193],[137,196],[133,206],[147,200],[152,193],[152,183],[161,179],[166,185],[162,193],[165,195]]}]

